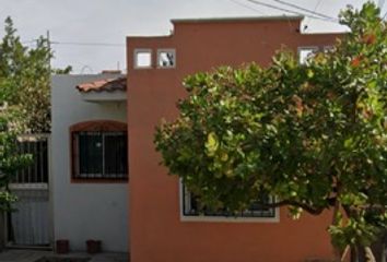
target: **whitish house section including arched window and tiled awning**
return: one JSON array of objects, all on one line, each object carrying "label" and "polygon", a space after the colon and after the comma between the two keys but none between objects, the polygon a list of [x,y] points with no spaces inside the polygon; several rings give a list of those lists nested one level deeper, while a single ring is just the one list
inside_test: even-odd
[{"label": "whitish house section including arched window and tiled awning", "polygon": [[84,251],[128,251],[126,78],[119,74],[51,79],[54,241]]}]

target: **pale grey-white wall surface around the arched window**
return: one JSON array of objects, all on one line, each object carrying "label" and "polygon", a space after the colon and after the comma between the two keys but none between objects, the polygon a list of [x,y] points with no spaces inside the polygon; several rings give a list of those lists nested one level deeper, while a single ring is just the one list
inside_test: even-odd
[{"label": "pale grey-white wall surface around the arched window", "polygon": [[109,119],[126,122],[126,103],[87,103],[75,85],[109,75],[52,76],[51,192],[54,236],[69,239],[72,250],[85,250],[85,240],[99,239],[105,251],[128,251],[128,186],[71,183],[69,127],[81,121]]}]

